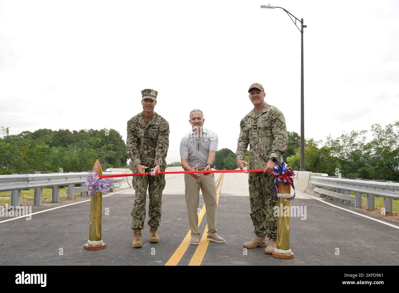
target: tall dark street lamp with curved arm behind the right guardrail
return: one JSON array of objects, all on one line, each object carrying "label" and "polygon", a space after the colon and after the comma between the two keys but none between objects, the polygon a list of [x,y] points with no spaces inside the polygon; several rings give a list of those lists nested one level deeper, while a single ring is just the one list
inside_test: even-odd
[{"label": "tall dark street lamp with curved arm behind the right guardrail", "polygon": [[[296,21],[300,22],[301,28],[298,28],[301,34],[301,53],[300,53],[300,171],[305,171],[305,135],[304,135],[304,111],[303,111],[303,28],[306,28],[307,26],[304,26],[303,24],[303,18],[300,20],[296,18],[294,15],[292,15],[290,12],[285,10],[282,7],[279,6],[271,6],[271,5],[262,5],[261,8],[270,8],[270,9],[275,9],[275,8],[281,8],[284,10],[292,22],[295,24],[295,26],[298,28],[298,25],[296,24]],[[292,19],[292,17],[295,18],[295,21]]]}]

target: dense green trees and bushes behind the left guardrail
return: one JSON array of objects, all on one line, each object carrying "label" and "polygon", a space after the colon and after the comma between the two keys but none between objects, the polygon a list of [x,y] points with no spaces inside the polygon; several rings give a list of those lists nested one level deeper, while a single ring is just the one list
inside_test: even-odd
[{"label": "dense green trees and bushes behind the left guardrail", "polygon": [[117,131],[41,129],[10,135],[9,128],[0,128],[0,175],[87,171],[97,158],[103,170],[126,166],[126,144]]}]

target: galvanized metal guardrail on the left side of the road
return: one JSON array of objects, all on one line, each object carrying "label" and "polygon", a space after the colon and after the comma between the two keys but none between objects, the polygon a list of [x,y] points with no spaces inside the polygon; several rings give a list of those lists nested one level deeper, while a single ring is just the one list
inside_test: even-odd
[{"label": "galvanized metal guardrail on the left side of the road", "polygon": [[[33,204],[41,206],[43,188],[52,187],[53,203],[59,203],[60,186],[68,186],[68,199],[73,199],[75,184],[81,185],[81,187],[77,187],[77,192],[80,192],[81,197],[87,196],[88,189],[85,182],[88,173],[89,172],[0,175],[0,191],[11,191],[11,205],[19,206],[21,203],[21,190],[35,189]],[[103,172],[103,175],[106,174],[111,175],[123,173]],[[123,177],[114,178],[114,181],[122,180]],[[82,187],[84,188],[83,190]]]}]

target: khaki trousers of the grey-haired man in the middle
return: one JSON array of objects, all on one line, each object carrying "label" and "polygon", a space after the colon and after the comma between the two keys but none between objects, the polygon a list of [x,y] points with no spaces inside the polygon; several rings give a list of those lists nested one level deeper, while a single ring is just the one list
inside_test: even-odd
[{"label": "khaki trousers of the grey-haired man in the middle", "polygon": [[188,212],[188,224],[191,230],[191,236],[199,236],[198,214],[199,189],[202,191],[203,201],[205,202],[206,221],[208,225],[208,236],[216,234],[216,215],[217,215],[217,197],[215,175],[203,175],[200,173],[199,179],[194,179],[190,174],[184,174],[186,205]]}]

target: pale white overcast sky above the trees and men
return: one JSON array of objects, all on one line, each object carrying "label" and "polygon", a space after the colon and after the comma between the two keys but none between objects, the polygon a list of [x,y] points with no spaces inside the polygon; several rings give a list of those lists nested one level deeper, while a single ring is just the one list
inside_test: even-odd
[{"label": "pale white overcast sky above the trees and men", "polygon": [[308,26],[306,138],[399,120],[399,1],[269,1],[0,1],[0,126],[113,128],[126,141],[153,88],[171,163],[193,108],[235,152],[256,82],[300,133],[300,32],[262,4]]}]

